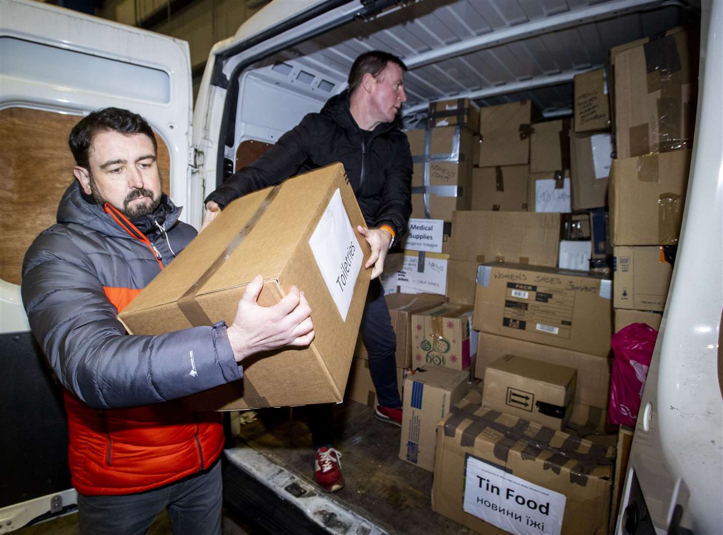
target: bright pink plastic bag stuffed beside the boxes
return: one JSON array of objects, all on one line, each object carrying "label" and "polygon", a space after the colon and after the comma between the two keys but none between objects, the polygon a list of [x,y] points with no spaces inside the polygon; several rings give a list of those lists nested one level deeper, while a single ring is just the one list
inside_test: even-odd
[{"label": "bright pink plastic bag stuffed beside the boxes", "polygon": [[632,323],[612,337],[612,377],[607,421],[635,427],[658,331]]}]

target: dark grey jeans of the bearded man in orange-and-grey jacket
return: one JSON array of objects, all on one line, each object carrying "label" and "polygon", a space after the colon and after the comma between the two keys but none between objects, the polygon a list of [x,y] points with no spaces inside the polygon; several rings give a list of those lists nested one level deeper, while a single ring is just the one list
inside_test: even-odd
[{"label": "dark grey jeans of the bearded man in orange-and-grey jacket", "polygon": [[174,535],[221,535],[221,460],[200,474],[123,496],[78,495],[80,535],[143,535],[168,509]]}]

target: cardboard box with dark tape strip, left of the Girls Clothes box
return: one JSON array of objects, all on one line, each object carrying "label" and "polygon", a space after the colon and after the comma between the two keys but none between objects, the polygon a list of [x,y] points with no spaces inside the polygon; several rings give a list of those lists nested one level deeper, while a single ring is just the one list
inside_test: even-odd
[{"label": "cardboard box with dark tape strip, left of the Girls Clothes box", "polygon": [[472,170],[471,210],[526,212],[529,166],[476,167]]}]

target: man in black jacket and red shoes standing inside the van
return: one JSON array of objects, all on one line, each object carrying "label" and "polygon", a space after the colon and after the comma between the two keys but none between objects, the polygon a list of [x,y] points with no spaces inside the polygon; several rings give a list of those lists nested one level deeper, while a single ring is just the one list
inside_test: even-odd
[{"label": "man in black jacket and red shoes standing inside the van", "polygon": [[[357,227],[372,248],[372,268],[361,334],[377,390],[377,419],[401,427],[396,380],[396,339],[378,280],[388,249],[406,232],[411,213],[412,160],[406,134],[395,117],[406,100],[401,59],[382,51],[361,54],[351,67],[348,90],[328,100],[319,114],[308,114],[283,134],[251,166],[241,168],[206,198],[202,228],[236,197],[278,184],[296,174],[341,161],[369,228]],[[343,487],[333,448],[333,406],[309,409],[315,448],[315,478],[328,492]]]}]

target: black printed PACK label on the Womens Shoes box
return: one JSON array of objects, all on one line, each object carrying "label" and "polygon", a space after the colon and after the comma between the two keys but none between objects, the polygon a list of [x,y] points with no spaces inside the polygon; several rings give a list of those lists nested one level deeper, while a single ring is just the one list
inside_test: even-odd
[{"label": "black printed PACK label on the Womens Shoes box", "polygon": [[502,325],[570,338],[575,292],[544,284],[507,283]]}]

